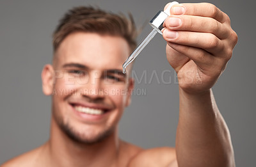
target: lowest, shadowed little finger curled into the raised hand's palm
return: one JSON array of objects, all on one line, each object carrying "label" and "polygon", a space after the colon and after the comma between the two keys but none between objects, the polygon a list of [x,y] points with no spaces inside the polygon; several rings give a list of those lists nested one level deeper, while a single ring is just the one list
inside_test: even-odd
[{"label": "lowest, shadowed little finger curled into the raised hand's palm", "polygon": [[172,42],[167,42],[167,44],[172,47],[173,50],[193,60],[202,70],[209,69],[210,66],[216,67],[216,65],[214,65],[215,57],[202,49],[174,44]]}]

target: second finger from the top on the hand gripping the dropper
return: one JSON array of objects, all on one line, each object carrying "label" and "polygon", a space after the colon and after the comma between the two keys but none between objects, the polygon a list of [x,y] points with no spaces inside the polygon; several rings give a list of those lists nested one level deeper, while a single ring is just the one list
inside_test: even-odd
[{"label": "second finger from the top on the hand gripping the dropper", "polygon": [[211,17],[172,15],[165,20],[164,26],[171,30],[212,33],[220,39],[225,39],[230,35],[228,26]]}]

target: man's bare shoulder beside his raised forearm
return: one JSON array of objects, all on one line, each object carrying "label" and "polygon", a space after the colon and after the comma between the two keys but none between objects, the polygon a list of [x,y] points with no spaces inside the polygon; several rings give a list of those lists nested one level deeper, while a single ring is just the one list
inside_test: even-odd
[{"label": "man's bare shoulder beside his raised forearm", "polygon": [[136,166],[175,167],[177,166],[175,148],[158,147],[143,150],[129,163],[129,167]]}]

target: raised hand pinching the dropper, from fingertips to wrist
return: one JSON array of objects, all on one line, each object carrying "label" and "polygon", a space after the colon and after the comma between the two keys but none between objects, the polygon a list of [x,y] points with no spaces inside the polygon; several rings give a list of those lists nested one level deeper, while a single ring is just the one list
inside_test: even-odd
[{"label": "raised hand pinching the dropper, from fingertips to wrist", "polygon": [[179,87],[188,93],[211,89],[237,43],[228,15],[209,3],[177,4],[170,13],[163,37]]}]

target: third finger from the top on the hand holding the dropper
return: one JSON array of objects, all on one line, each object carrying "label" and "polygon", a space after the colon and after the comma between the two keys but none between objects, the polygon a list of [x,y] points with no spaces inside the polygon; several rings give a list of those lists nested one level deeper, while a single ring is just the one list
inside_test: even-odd
[{"label": "third finger from the top on the hand holding the dropper", "polygon": [[204,49],[216,56],[218,56],[220,52],[223,52],[225,46],[223,41],[211,33],[172,31],[164,29],[163,38],[167,42]]}]

